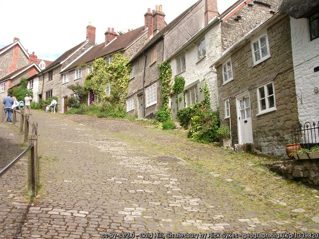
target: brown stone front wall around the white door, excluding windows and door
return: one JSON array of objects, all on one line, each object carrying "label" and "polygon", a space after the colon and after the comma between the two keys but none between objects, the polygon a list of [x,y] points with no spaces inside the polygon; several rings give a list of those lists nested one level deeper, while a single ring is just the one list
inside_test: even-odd
[{"label": "brown stone front wall around the white door, excluding windows and door", "polygon": [[[266,29],[260,28],[254,37],[262,32]],[[251,42],[248,41],[231,54],[234,80],[223,85],[222,65],[217,67],[220,119],[223,123],[224,100],[230,99],[232,139],[233,144],[238,143],[236,97],[248,92],[256,148],[264,154],[286,157],[285,145],[291,138],[291,127],[298,123],[289,17],[269,26],[267,35],[270,58],[253,66]],[[258,115],[257,88],[268,82],[274,84],[276,110]]]}]

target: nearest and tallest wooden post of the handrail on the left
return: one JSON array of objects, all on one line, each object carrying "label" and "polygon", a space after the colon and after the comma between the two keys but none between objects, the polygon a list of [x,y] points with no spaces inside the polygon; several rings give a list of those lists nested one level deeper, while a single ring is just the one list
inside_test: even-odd
[{"label": "nearest and tallest wooden post of the handrail on the left", "polygon": [[29,171],[29,189],[32,190],[32,196],[36,196],[36,172],[37,172],[37,137],[34,133],[35,124],[32,124],[32,132],[30,133],[28,137],[29,144],[33,145],[33,147],[30,149],[30,171]]}]

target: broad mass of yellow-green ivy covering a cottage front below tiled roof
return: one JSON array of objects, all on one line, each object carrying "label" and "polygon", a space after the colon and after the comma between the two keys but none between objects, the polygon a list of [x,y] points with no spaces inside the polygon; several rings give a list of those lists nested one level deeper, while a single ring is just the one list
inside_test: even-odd
[{"label": "broad mass of yellow-green ivy covering a cottage front below tiled roof", "polygon": [[[93,90],[102,101],[124,106],[132,69],[131,65],[127,65],[128,62],[129,57],[123,56],[122,53],[114,54],[108,66],[102,57],[94,60],[93,71],[86,76],[84,88]],[[111,87],[111,95],[106,94],[108,85]]]}]

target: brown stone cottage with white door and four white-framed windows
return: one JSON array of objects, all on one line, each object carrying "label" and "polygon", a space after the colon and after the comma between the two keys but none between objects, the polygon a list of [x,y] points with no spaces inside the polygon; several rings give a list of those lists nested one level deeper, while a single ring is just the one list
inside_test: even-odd
[{"label": "brown stone cottage with white door and four white-framed windows", "polygon": [[298,121],[289,16],[276,13],[233,44],[214,63],[220,119],[233,144],[286,157]]}]

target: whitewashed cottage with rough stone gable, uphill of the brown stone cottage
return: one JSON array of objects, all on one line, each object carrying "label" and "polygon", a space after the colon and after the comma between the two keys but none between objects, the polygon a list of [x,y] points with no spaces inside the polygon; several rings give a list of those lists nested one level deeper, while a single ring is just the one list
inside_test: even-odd
[{"label": "whitewashed cottage with rough stone gable, uphill of the brown stone cottage", "polygon": [[203,100],[204,81],[210,91],[211,108],[218,107],[216,70],[211,67],[221,53],[236,40],[262,21],[274,15],[278,0],[238,0],[222,14],[218,14],[217,0],[205,1],[205,9],[214,14],[203,27],[175,52],[164,51],[164,60],[169,60],[172,68],[172,84],[176,76],[185,79],[184,92],[171,96],[172,118],[177,111]]}]

